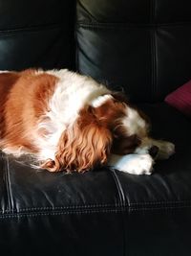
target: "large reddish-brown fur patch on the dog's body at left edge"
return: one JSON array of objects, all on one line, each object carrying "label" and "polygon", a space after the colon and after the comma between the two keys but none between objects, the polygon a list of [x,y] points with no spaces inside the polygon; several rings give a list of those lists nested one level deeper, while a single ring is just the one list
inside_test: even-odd
[{"label": "large reddish-brown fur patch on the dog's body at left edge", "polygon": [[24,147],[36,152],[32,128],[48,110],[57,79],[34,70],[0,74],[1,148]]}]

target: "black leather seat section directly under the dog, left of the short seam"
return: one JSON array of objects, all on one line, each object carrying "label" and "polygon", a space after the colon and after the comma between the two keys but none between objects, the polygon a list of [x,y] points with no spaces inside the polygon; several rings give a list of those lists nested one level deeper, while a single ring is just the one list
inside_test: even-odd
[{"label": "black leather seat section directly under the dog, left of the short seam", "polygon": [[6,155],[2,161],[3,213],[89,211],[99,205],[107,209],[119,204],[113,175],[103,170],[84,175],[52,174],[33,170]]}]

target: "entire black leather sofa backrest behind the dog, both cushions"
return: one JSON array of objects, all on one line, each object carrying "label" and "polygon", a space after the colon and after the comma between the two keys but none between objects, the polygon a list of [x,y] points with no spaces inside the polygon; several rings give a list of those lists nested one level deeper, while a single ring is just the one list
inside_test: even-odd
[{"label": "entire black leather sofa backrest behind the dog, both cushions", "polygon": [[69,68],[135,102],[191,78],[190,0],[0,0],[0,69]]}]

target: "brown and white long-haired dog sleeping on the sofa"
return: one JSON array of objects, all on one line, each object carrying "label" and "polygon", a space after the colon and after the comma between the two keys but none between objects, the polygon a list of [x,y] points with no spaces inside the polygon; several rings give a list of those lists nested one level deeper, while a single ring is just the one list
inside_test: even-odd
[{"label": "brown and white long-haired dog sleeping on the sofa", "polygon": [[103,84],[62,70],[0,73],[0,148],[51,172],[108,165],[150,175],[174,145],[149,137],[145,115]]}]

